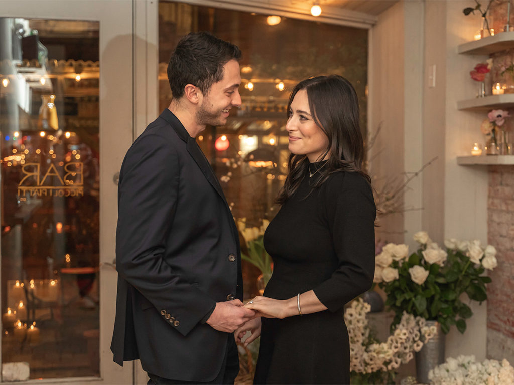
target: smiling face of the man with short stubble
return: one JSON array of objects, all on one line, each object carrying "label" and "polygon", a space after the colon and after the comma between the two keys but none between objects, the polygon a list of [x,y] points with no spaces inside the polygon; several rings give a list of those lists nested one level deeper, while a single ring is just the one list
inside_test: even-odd
[{"label": "smiling face of the man with short stubble", "polygon": [[229,110],[241,105],[239,62],[227,62],[223,66],[223,73],[223,79],[209,88],[196,111],[199,125],[223,126],[227,123]]}]

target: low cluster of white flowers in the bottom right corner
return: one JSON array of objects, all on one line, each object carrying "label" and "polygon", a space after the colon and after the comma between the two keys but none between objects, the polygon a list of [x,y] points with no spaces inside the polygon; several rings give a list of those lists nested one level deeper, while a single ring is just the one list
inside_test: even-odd
[{"label": "low cluster of white flowers in the bottom right corner", "polygon": [[509,361],[476,362],[474,356],[448,358],[428,373],[432,385],[513,385],[514,368]]}]

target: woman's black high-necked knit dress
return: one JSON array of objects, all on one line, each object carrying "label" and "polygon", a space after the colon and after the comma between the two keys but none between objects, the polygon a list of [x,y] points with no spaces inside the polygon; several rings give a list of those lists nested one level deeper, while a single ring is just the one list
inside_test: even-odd
[{"label": "woman's black high-necked knit dress", "polygon": [[373,283],[376,208],[361,175],[336,172],[312,190],[319,174],[304,177],[266,229],[273,274],[264,296],[288,299],[314,289],[328,310],[262,318],[256,384],[350,383],[343,307]]}]

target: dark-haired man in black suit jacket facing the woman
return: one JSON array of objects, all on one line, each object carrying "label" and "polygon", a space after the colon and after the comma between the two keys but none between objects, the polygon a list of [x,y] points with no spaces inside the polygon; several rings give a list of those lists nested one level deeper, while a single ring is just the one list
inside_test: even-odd
[{"label": "dark-haired man in black suit jacket facing the woman", "polygon": [[233,383],[242,307],[237,229],[195,136],[241,104],[241,51],[190,33],[168,65],[172,101],[121,166],[114,361],[140,359],[149,384]]}]

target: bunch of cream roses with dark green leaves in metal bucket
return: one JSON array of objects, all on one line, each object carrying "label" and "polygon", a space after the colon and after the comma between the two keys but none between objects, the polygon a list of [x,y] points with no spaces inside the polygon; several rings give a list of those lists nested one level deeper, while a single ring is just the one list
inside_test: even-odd
[{"label": "bunch of cream roses with dark green leaves in metal bucket", "polygon": [[466,319],[473,313],[461,301],[466,293],[473,301],[487,299],[486,269],[498,266],[497,251],[480,240],[446,239],[446,249],[432,241],[425,231],[414,234],[418,243],[409,255],[405,244],[388,243],[375,258],[373,282],[387,294],[386,305],[394,311],[397,324],[404,311],[427,320],[436,320],[447,334],[452,325],[466,331]]}]

